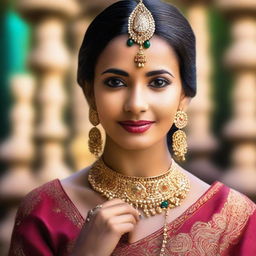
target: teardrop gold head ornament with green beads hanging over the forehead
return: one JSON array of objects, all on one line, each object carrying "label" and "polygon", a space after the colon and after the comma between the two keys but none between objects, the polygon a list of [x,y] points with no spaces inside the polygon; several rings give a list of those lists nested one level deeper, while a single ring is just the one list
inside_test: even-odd
[{"label": "teardrop gold head ornament with green beads hanging over the forehead", "polygon": [[154,35],[155,21],[151,12],[139,1],[138,5],[132,11],[128,20],[128,33],[130,38],[127,41],[128,46],[132,46],[137,43],[140,48],[139,52],[134,58],[134,62],[137,67],[144,67],[146,63],[146,56],[144,54],[144,48],[150,47],[149,39]]}]

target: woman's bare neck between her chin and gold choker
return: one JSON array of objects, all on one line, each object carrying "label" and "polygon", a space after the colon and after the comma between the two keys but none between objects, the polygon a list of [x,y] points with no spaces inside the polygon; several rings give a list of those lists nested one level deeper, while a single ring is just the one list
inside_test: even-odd
[{"label": "woman's bare neck between her chin and gold choker", "polygon": [[127,150],[107,137],[102,158],[112,170],[123,175],[139,177],[161,175],[172,163],[166,141],[143,150]]}]

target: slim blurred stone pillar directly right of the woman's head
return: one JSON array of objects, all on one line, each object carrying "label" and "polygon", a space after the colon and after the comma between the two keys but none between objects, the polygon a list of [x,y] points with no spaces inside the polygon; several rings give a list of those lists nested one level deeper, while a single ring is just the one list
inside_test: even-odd
[{"label": "slim blurred stone pillar directly right of the woman's head", "polygon": [[208,27],[208,4],[210,1],[182,1],[186,3],[187,18],[196,36],[197,95],[189,106],[187,168],[208,183],[219,179],[220,172],[210,161],[217,149],[217,141],[211,131],[213,112],[212,62],[210,56],[210,34]]}]

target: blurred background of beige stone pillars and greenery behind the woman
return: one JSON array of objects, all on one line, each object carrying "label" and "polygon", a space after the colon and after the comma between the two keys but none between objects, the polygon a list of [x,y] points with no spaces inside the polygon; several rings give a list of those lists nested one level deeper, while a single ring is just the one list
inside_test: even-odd
[{"label": "blurred background of beige stone pillars and greenery behind the woman", "polygon": [[[76,83],[90,21],[114,0],[5,0],[0,22],[0,255],[31,189],[94,158]],[[256,201],[256,1],[179,0],[197,37],[198,94],[189,110],[195,175]]]}]

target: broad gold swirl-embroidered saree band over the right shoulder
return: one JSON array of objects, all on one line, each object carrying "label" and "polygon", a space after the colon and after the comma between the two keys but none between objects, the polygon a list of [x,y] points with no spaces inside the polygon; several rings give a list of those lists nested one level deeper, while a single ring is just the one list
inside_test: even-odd
[{"label": "broad gold swirl-embroidered saree band over the right shoulder", "polygon": [[240,193],[230,190],[220,213],[209,222],[196,222],[189,234],[180,233],[168,241],[172,256],[223,255],[231,244],[237,242],[255,205]]}]

